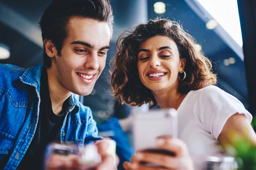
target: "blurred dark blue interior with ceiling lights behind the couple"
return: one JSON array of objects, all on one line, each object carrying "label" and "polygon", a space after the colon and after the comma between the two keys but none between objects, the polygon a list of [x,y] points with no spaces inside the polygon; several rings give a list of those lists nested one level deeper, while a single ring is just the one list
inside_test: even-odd
[{"label": "blurred dark blue interior with ceiling lights behind the couple", "polygon": [[[38,22],[52,0],[0,0],[0,63],[28,68],[43,62],[43,43]],[[218,87],[236,96],[250,111],[243,40],[237,0],[110,0],[115,17],[114,35],[107,62],[115,55],[115,42],[127,28],[155,17],[176,20],[198,42],[198,50],[211,59],[218,74]],[[253,1],[252,1],[253,2]],[[132,108],[113,101],[106,81],[109,65],[97,80],[93,92],[80,96],[99,125],[113,116],[129,132]],[[99,128],[102,136],[115,136],[112,130]],[[129,133],[128,133],[129,136]],[[128,137],[130,139],[130,137]],[[130,139],[131,140],[131,139]],[[130,152],[130,151],[129,151]],[[132,152],[132,151],[131,151]]]}]

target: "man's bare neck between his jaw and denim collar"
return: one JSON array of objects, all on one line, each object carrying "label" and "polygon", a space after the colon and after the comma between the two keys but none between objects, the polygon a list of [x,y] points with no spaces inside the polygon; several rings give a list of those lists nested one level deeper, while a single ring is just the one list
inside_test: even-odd
[{"label": "man's bare neck between his jaw and denim collar", "polygon": [[64,88],[58,81],[57,77],[52,74],[52,69],[47,68],[48,74],[48,87],[49,95],[52,101],[52,111],[58,115],[61,110],[64,101],[72,94],[66,88]]}]

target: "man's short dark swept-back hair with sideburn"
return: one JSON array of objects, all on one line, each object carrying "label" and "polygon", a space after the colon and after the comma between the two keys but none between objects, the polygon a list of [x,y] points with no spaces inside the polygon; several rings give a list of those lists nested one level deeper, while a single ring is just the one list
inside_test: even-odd
[{"label": "man's short dark swept-back hair with sideburn", "polygon": [[[113,34],[113,12],[109,0],[53,0],[39,22],[44,40],[51,40],[61,56],[63,41],[68,36],[71,17],[84,17],[108,23]],[[51,67],[44,45],[44,64]]]}]

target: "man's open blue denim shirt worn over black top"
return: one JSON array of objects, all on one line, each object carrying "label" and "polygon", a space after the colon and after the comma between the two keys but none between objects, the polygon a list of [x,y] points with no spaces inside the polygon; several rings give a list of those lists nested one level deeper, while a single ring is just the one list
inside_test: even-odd
[{"label": "man's open blue denim shirt worn over black top", "polygon": [[[0,165],[16,169],[34,136],[40,105],[43,65],[20,68],[0,64]],[[101,139],[90,108],[69,98],[61,128],[61,143],[84,145]]]}]

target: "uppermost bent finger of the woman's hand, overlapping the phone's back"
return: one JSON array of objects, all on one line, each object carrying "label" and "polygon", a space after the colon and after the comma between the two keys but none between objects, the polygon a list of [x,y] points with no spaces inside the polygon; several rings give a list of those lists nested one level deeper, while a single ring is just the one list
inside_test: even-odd
[{"label": "uppermost bent finger of the woman's hand, overlapping the phone's back", "polygon": [[173,152],[178,157],[189,155],[185,142],[180,139],[161,136],[157,138],[157,145],[164,150]]}]

